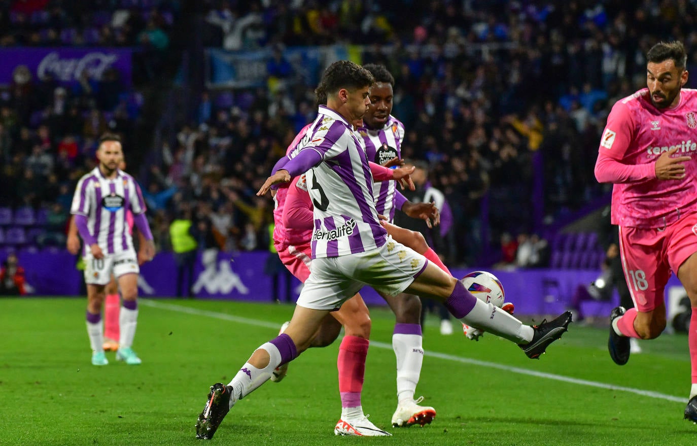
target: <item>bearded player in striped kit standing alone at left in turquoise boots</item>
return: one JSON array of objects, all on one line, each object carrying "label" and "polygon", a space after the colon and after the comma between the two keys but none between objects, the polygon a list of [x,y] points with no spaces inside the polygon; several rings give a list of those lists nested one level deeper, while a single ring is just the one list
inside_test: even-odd
[{"label": "bearded player in striped kit standing alone at left in turquoise boots", "polygon": [[[75,188],[70,213],[84,243],[85,282],[87,284],[87,334],[92,348],[92,364],[109,364],[102,350],[102,305],[105,286],[114,274],[121,289],[123,305],[119,314],[119,335],[116,360],[140,364],[132,350],[138,318],[139,263],[155,255],[153,234],[145,217],[145,201],[132,176],[118,169],[123,158],[121,139],[104,134],[97,148],[98,167],[80,178]],[[133,222],[145,238],[136,255],[126,210],[133,213]]]}]

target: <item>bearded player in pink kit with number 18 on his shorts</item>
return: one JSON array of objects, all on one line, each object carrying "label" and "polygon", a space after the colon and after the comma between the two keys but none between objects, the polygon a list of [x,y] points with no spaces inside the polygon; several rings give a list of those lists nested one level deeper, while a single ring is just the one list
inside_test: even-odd
[{"label": "bearded player in pink kit with number 18 on his shorts", "polygon": [[680,42],[647,54],[647,86],[613,106],[600,141],[595,178],[614,183],[612,223],[634,308],[610,315],[608,350],[629,360],[629,338],[654,339],[666,328],[664,289],[673,271],[690,298],[692,368],[684,417],[697,422],[697,91],[687,82]]}]

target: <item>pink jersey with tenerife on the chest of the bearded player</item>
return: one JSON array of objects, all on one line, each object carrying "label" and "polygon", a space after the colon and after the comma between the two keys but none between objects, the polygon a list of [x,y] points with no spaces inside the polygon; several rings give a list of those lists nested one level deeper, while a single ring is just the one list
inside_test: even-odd
[{"label": "pink jersey with tenerife on the chest of the bearded player", "polygon": [[[659,180],[654,163],[661,153],[678,148],[685,178]],[[595,178],[615,183],[612,223],[664,228],[690,210],[697,210],[697,90],[682,89],[680,102],[657,109],[648,89],[615,102],[600,140]]]}]

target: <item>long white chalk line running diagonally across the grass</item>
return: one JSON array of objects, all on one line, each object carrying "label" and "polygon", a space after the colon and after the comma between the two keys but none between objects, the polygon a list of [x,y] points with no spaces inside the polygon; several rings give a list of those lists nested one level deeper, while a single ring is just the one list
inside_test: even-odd
[{"label": "long white chalk line running diagonally across the grass", "polygon": [[[238,316],[232,316],[230,314],[220,313],[220,312],[209,312],[203,309],[184,307],[183,305],[165,304],[162,302],[157,302],[151,299],[139,299],[141,305],[146,305],[147,307],[159,308],[159,309],[169,309],[173,312],[181,312],[186,314],[194,314],[197,316],[206,316],[210,318],[222,319],[223,321],[231,321],[238,323],[245,323],[247,325],[256,325],[264,328],[278,328],[277,323],[270,323],[267,321],[259,321],[258,319],[250,318],[240,318]],[[370,346],[385,348],[387,350],[392,350],[392,344],[385,344],[379,341],[370,341]],[[634,389],[633,387],[623,387],[620,385],[612,385],[607,383],[599,383],[597,381],[589,381],[579,378],[570,378],[569,376],[562,376],[556,374],[547,374],[542,371],[521,369],[520,367],[511,367],[508,365],[497,364],[496,362],[473,360],[468,357],[461,357],[455,355],[447,355],[446,353],[438,353],[434,351],[424,351],[424,355],[437,357],[441,360],[450,360],[454,362],[462,362],[463,364],[472,364],[480,367],[489,367],[491,369],[499,369],[503,371],[510,371],[515,374],[535,376],[537,378],[546,378],[556,381],[562,381],[563,383],[570,383],[576,385],[585,385],[588,387],[597,387],[599,389],[615,390],[618,392],[628,392],[640,395],[641,397],[650,397],[657,399],[665,399],[667,401],[674,401],[676,403],[687,403],[687,398],[673,397],[673,395],[666,395],[659,392],[651,392],[650,390]]]}]

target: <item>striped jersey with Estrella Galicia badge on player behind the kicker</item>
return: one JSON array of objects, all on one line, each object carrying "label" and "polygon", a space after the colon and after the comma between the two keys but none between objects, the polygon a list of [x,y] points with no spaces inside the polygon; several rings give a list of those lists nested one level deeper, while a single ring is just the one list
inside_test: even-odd
[{"label": "striped jersey with Estrella Galicia badge on player behind the kicker", "polygon": [[[404,139],[404,124],[390,115],[385,126],[379,130],[361,127],[358,129],[365,141],[365,153],[368,161],[384,164],[394,157],[401,158],[401,141]],[[378,214],[385,215],[390,223],[395,219],[395,191],[397,181],[380,181],[373,183],[373,198]]]}]

